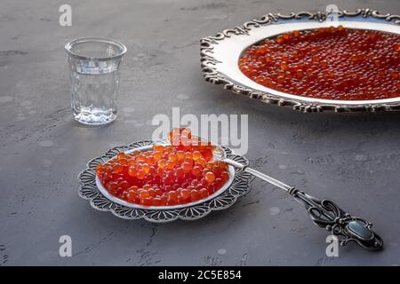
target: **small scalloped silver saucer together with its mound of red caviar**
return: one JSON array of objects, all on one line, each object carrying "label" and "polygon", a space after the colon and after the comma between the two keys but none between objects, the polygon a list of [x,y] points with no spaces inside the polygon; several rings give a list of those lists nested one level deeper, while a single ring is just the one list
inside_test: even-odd
[{"label": "small scalloped silver saucer together with its mound of red caviar", "polygon": [[[213,159],[213,145],[188,129],[160,141],[143,140],[110,149],[88,162],[79,194],[95,209],[152,222],[196,219],[226,209],[249,191],[252,177]],[[221,147],[239,164],[247,160]]]}]

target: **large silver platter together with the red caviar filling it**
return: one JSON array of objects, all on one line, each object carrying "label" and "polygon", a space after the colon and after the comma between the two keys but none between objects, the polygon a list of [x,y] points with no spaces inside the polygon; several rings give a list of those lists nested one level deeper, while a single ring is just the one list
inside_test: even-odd
[{"label": "large silver platter together with the red caviar filling it", "polygon": [[304,112],[400,108],[399,17],[266,14],[201,41],[207,81]]}]

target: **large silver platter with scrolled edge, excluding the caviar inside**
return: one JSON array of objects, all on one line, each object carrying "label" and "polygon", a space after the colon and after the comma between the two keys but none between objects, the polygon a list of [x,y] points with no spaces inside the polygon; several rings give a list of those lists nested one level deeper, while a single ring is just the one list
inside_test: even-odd
[{"label": "large silver platter with scrolled edge, excluding the caviar inside", "polygon": [[[268,13],[242,26],[226,29],[216,36],[201,40],[201,61],[206,81],[222,84],[225,89],[278,106],[291,106],[303,112],[323,110],[378,111],[399,110],[400,98],[374,100],[314,99],[276,91],[253,82],[238,67],[242,52],[254,43],[284,32],[330,26],[324,12],[292,12],[284,15]],[[345,28],[379,30],[400,35],[400,16],[382,14],[370,9],[337,12],[339,24]]]}]

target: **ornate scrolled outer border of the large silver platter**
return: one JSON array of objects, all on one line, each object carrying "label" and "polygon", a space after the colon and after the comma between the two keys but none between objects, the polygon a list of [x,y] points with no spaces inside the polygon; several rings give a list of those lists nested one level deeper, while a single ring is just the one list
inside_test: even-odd
[{"label": "ornate scrolled outer border of the large silver platter", "polygon": [[[215,36],[207,36],[200,41],[200,53],[201,53],[201,67],[203,69],[204,79],[207,82],[214,84],[222,84],[224,89],[234,91],[237,94],[248,96],[252,99],[259,99],[262,102],[268,104],[274,104],[277,106],[291,106],[294,110],[299,110],[305,113],[308,112],[322,112],[324,110],[334,112],[356,112],[356,111],[394,111],[400,110],[400,101],[390,103],[369,103],[365,102],[359,105],[340,105],[340,104],[324,104],[319,102],[308,102],[300,99],[289,99],[282,98],[276,95],[269,94],[266,91],[257,91],[252,88],[246,87],[241,83],[237,83],[223,75],[216,65],[220,63],[218,59],[214,57],[213,47],[215,44],[219,44],[220,41],[230,38],[232,36],[250,36],[253,28],[261,28],[276,22],[284,20],[315,20],[324,21],[331,12],[291,12],[289,14],[282,13],[268,13],[261,16],[259,19],[253,19],[244,22],[242,26],[236,28],[225,29]],[[392,15],[390,13],[381,14],[378,11],[372,9],[356,9],[356,11],[338,11],[338,18],[343,19],[345,17],[355,18],[371,18],[376,20],[382,20],[386,23],[392,23],[400,25],[400,16]]]}]

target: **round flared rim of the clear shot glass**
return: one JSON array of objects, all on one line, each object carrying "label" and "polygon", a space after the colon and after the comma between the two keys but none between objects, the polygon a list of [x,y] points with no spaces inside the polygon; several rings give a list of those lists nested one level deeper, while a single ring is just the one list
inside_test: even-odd
[{"label": "round flared rim of the clear shot glass", "polygon": [[[118,52],[116,55],[113,56],[107,56],[107,57],[96,57],[96,56],[85,56],[81,55],[79,53],[76,53],[72,51],[72,48],[74,45],[78,43],[109,43],[113,44],[116,47],[119,48],[120,52]],[[112,60],[112,59],[118,59],[121,58],[127,51],[126,46],[123,43],[120,43],[116,40],[105,38],[105,37],[80,37],[76,38],[69,43],[65,44],[64,46],[65,51],[70,55],[73,56],[74,58],[77,59],[97,59],[97,60]]]}]

